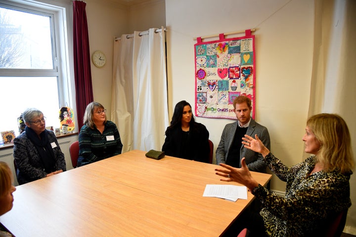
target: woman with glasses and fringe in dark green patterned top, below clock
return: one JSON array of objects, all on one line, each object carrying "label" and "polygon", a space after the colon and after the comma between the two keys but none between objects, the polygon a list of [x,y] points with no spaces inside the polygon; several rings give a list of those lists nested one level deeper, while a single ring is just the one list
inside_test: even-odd
[{"label": "woman with glasses and fringe in dark green patterned top, below clock", "polygon": [[79,132],[78,166],[121,154],[122,143],[114,122],[106,120],[106,109],[91,102],[84,114]]}]

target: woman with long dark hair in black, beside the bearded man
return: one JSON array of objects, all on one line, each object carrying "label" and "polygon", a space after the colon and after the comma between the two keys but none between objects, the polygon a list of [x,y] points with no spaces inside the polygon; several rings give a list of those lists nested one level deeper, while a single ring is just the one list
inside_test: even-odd
[{"label": "woman with long dark hair in black, beside the bearded man", "polygon": [[167,156],[209,162],[209,131],[195,121],[185,100],[177,103],[162,151]]}]

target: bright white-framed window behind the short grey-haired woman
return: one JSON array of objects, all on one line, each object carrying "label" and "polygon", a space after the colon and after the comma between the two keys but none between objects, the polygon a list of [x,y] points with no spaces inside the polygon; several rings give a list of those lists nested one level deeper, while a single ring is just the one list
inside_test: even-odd
[{"label": "bright white-framed window behind the short grey-haired woman", "polygon": [[41,110],[46,126],[53,128],[60,126],[61,107],[75,109],[73,67],[68,66],[72,26],[66,20],[71,5],[21,2],[27,5],[0,3],[0,131],[14,130],[16,136],[17,118],[26,108]]}]

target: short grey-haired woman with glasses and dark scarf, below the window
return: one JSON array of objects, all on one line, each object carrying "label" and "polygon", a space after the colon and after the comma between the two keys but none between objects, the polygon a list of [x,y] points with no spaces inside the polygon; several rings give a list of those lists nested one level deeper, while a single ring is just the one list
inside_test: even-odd
[{"label": "short grey-haired woman with glasses and dark scarf, below the window", "polygon": [[13,156],[17,165],[17,181],[21,184],[66,171],[54,132],[45,129],[45,117],[37,109],[22,113],[25,131],[14,139]]}]

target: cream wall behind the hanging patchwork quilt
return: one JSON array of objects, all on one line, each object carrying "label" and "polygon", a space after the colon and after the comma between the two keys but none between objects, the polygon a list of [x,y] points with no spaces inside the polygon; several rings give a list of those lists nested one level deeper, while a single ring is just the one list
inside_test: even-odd
[{"label": "cream wall behind the hanging patchwork quilt", "polygon": [[[268,128],[274,155],[286,165],[300,162],[312,72],[313,1],[166,0],[166,24],[170,118],[177,102],[195,101],[193,38],[257,27],[256,120]],[[232,122],[197,121],[208,128],[215,149],[223,127]],[[271,189],[284,191],[285,183],[273,177]]]}]

